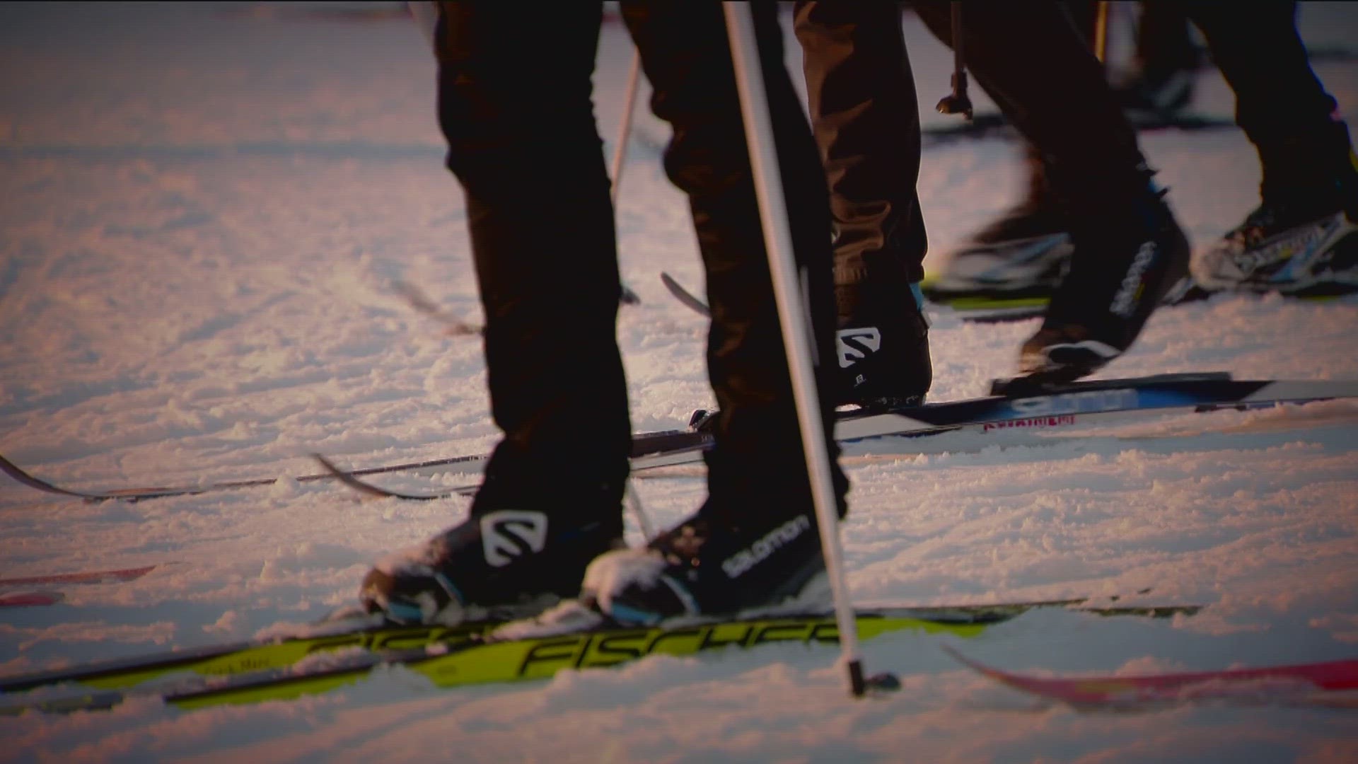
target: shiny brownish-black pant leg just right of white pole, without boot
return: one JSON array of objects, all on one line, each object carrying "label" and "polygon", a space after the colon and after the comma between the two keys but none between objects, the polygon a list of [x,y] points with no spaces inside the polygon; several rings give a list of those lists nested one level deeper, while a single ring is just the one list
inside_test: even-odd
[{"label": "shiny brownish-black pant leg just right of white pole, without boot", "polygon": [[811,124],[830,185],[841,318],[883,291],[892,305],[923,279],[915,185],[919,102],[894,0],[796,4]]}]

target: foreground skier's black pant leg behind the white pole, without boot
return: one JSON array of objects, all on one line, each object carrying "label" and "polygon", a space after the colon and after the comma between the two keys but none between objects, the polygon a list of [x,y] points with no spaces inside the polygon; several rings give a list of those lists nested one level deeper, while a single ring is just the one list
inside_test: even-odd
[{"label": "foreground skier's black pant leg behind the white pole, without boot", "polygon": [[[752,7],[794,256],[823,360],[834,347],[824,171],[782,65],[777,8]],[[708,367],[720,406],[708,454],[709,510],[736,523],[807,511],[809,481],[721,4],[637,0],[622,11],[653,87],[652,110],[674,128],[665,171],[689,194],[706,266]],[[827,364],[816,366],[834,459],[831,379]],[[838,466],[834,473],[842,496],[847,484]]]}]

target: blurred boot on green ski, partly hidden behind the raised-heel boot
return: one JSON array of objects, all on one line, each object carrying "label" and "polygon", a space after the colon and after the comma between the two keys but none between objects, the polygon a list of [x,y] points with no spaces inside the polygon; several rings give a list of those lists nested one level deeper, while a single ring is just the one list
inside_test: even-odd
[{"label": "blurred boot on green ski, partly hidden behind the raised-heel boot", "polygon": [[934,302],[967,298],[1047,298],[1070,261],[1070,234],[1059,208],[1031,197],[971,235],[929,275]]}]

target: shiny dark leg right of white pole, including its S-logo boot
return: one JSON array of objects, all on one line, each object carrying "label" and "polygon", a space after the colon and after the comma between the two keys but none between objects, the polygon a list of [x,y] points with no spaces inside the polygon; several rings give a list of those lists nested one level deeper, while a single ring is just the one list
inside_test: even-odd
[{"label": "shiny dark leg right of white pole, including its S-logo boot", "polygon": [[913,294],[928,238],[900,7],[803,0],[796,34],[834,213],[837,400],[918,402],[933,379],[929,325]]}]

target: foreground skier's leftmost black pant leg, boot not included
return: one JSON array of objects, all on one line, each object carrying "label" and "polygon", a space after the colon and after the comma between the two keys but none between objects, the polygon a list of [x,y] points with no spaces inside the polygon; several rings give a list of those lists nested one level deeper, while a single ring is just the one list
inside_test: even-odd
[{"label": "foreground skier's leftmost black pant leg, boot not included", "polygon": [[631,427],[591,102],[602,8],[486,0],[441,10],[439,124],[466,194],[490,404],[504,431],[474,511],[617,513]]}]

